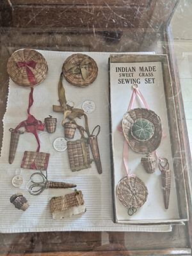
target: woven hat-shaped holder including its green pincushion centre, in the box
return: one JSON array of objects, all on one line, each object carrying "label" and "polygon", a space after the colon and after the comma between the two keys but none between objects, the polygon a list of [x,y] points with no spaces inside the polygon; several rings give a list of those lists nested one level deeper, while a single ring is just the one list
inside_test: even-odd
[{"label": "woven hat-shaped holder including its green pincushion centre, in the box", "polygon": [[147,108],[127,111],[122,120],[125,140],[134,152],[147,154],[154,152],[161,143],[161,118]]}]

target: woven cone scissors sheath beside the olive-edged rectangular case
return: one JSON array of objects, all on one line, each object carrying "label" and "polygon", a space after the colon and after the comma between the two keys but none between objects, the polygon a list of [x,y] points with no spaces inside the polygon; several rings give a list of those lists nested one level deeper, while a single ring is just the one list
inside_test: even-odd
[{"label": "woven cone scissors sheath beside the olive-edged rectangular case", "polygon": [[95,165],[97,167],[97,171],[99,172],[99,174],[102,173],[102,166],[100,163],[100,154],[99,154],[99,147],[98,147],[98,142],[97,142],[97,136],[90,136],[90,138],[88,138],[89,143],[90,143],[90,147],[92,149],[92,154],[93,154],[93,158],[95,161]]}]

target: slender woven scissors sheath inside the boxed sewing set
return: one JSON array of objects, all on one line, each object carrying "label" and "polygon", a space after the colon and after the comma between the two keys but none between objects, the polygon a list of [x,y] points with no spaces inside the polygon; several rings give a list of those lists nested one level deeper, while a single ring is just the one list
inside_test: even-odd
[{"label": "slender woven scissors sheath inside the boxed sewing set", "polygon": [[168,209],[170,202],[170,190],[171,190],[171,171],[163,170],[161,172],[162,188],[163,188],[163,198],[164,207]]}]

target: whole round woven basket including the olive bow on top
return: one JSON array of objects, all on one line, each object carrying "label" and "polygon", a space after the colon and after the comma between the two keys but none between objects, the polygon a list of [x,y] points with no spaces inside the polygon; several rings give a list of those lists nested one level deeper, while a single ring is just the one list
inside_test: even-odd
[{"label": "whole round woven basket including the olive bow on top", "polygon": [[97,78],[98,67],[95,60],[86,54],[72,54],[65,60],[62,67],[63,76],[68,83],[85,87]]}]

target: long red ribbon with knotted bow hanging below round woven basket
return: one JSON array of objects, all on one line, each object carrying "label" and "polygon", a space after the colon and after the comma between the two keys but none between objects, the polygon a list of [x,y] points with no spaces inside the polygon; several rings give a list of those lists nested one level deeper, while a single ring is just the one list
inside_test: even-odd
[{"label": "long red ribbon with knotted bow hanging below round woven basket", "polygon": [[32,105],[33,105],[33,88],[31,88],[31,92],[29,93],[28,119],[25,121],[22,121],[19,125],[17,125],[17,127],[15,128],[15,131],[18,131],[20,127],[25,127],[26,132],[33,133],[35,135],[36,141],[38,142],[38,148],[36,152],[39,152],[40,140],[38,138],[38,134],[36,130],[44,131],[45,124],[42,124],[40,120],[36,120],[36,118],[29,113]]}]

